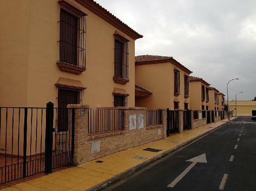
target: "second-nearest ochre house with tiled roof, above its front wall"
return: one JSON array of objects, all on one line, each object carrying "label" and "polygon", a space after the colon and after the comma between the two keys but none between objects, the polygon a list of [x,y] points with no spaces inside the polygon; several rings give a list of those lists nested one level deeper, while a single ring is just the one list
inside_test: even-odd
[{"label": "second-nearest ochre house with tiled roof, above its front wall", "polygon": [[135,91],[135,106],[148,109],[189,109],[189,75],[181,63],[168,56],[135,57],[135,84],[147,93]]}]

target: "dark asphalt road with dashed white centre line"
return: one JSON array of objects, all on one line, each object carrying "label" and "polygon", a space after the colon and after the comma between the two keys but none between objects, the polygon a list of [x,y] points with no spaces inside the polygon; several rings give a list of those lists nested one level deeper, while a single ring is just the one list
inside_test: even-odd
[{"label": "dark asphalt road with dashed white centre line", "polygon": [[[253,122],[250,118],[235,121]],[[186,160],[204,153],[207,163],[196,163],[174,187],[167,187],[193,165]],[[230,161],[232,155],[233,161]],[[256,191],[256,123],[225,124],[106,190],[216,191],[223,188]]]}]

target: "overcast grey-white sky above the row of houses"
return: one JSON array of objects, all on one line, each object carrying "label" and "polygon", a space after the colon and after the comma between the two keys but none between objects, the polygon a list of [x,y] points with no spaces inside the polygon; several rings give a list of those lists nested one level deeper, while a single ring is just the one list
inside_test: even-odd
[{"label": "overcast grey-white sky above the row of houses", "polygon": [[135,55],[172,56],[229,100],[256,96],[256,0],[96,0],[144,37]]}]

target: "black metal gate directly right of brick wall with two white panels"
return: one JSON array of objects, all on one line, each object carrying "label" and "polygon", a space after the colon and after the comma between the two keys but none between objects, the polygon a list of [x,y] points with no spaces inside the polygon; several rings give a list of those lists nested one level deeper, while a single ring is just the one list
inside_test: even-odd
[{"label": "black metal gate directly right of brick wall with two white panels", "polygon": [[166,135],[179,132],[179,111],[166,110]]}]

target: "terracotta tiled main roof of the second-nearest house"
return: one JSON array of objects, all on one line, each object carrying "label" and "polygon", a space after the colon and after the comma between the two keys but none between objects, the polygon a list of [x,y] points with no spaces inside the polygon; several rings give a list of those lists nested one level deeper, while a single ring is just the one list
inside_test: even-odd
[{"label": "terracotta tiled main roof of the second-nearest house", "polygon": [[190,74],[192,71],[190,71],[188,68],[184,67],[181,63],[179,63],[177,60],[175,60],[172,56],[156,56],[156,55],[140,55],[135,56],[135,65],[144,65],[144,64],[156,64],[163,62],[172,62],[175,66],[179,67],[186,73]]}]

